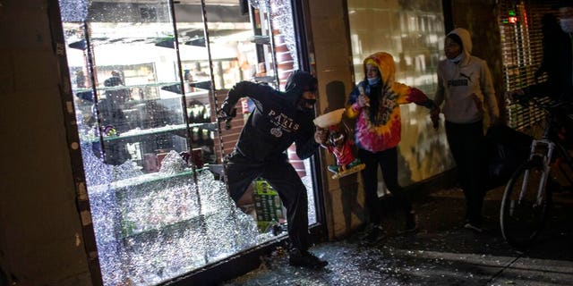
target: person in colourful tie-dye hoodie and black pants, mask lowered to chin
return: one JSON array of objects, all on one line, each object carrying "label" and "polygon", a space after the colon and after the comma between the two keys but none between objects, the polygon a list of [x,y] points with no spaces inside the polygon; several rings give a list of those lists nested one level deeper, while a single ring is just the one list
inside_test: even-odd
[{"label": "person in colourful tie-dye hoodie and black pants, mask lowered to chin", "polygon": [[406,213],[406,231],[415,231],[412,203],[398,185],[398,143],[401,136],[399,105],[415,103],[437,108],[418,88],[394,81],[396,66],[392,55],[379,52],[363,61],[365,79],[354,88],[346,105],[346,115],[355,119],[355,144],[358,157],[366,167],[362,171],[366,208],[370,223],[364,242],[374,244],[384,238],[378,190],[378,166],[386,187]]}]

